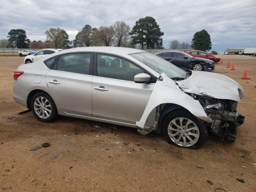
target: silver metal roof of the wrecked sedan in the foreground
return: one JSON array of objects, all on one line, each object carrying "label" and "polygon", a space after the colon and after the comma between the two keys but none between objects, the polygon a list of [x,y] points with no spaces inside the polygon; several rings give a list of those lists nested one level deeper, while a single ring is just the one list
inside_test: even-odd
[{"label": "silver metal roof of the wrecked sedan in the foreground", "polygon": [[61,53],[68,53],[68,52],[105,52],[105,53],[112,53],[115,54],[116,52],[122,54],[133,54],[133,53],[140,53],[146,52],[140,49],[133,49],[133,48],[126,48],[126,47],[100,47],[100,46],[92,46],[92,47],[77,47],[71,49],[62,50]]}]

